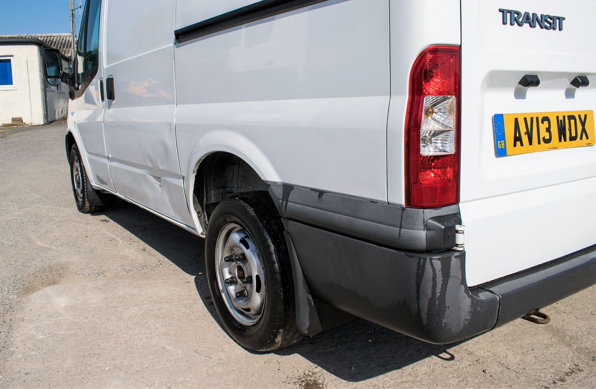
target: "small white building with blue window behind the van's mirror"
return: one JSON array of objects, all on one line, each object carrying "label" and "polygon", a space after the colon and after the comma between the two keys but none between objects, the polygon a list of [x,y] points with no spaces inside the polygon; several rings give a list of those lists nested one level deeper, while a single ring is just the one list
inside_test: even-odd
[{"label": "small white building with blue window behind the van's mirror", "polygon": [[51,123],[66,118],[69,90],[44,79],[43,49],[59,49],[70,67],[70,34],[0,35],[0,126]]}]

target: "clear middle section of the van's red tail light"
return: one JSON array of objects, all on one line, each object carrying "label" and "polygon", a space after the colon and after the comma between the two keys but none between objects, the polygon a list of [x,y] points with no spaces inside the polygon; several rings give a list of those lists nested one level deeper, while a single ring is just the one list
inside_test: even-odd
[{"label": "clear middle section of the van's red tail light", "polygon": [[455,96],[426,96],[420,125],[420,154],[455,153]]}]

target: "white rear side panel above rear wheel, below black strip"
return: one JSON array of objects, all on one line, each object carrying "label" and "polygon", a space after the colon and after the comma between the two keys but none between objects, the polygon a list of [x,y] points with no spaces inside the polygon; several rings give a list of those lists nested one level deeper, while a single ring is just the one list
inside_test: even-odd
[{"label": "white rear side panel above rear wheel, below black strip", "polygon": [[387,1],[328,1],[176,45],[184,174],[238,149],[263,180],[386,202],[388,22]]}]

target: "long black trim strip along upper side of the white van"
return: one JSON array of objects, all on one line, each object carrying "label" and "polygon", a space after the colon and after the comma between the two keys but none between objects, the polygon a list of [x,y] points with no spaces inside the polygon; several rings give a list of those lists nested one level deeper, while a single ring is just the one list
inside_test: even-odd
[{"label": "long black trim strip along upper side of the white van", "polygon": [[175,30],[176,43],[186,42],[187,40],[231,29],[232,27],[241,26],[242,24],[323,1],[325,0],[262,0]]}]

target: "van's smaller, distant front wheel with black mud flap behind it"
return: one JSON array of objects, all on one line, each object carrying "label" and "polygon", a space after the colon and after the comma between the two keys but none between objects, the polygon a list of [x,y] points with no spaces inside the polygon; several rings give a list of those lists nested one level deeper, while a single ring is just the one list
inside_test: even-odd
[{"label": "van's smaller, distant front wheel with black mud flap behind it", "polygon": [[91,187],[77,145],[73,145],[70,149],[70,181],[73,186],[76,208],[83,214],[99,211],[104,205],[117,200],[116,197],[101,193]]}]

